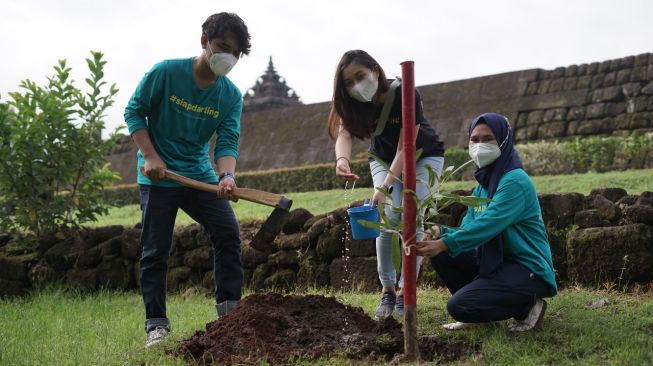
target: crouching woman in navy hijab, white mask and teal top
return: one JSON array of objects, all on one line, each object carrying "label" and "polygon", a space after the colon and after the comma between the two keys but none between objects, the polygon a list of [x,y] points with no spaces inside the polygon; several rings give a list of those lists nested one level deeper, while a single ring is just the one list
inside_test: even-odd
[{"label": "crouching woman in navy hijab, white mask and teal top", "polygon": [[479,185],[472,195],[490,198],[469,207],[458,229],[435,228],[437,240],[417,243],[452,293],[449,330],[514,318],[527,331],[544,317],[544,297],[557,285],[537,192],[522,169],[508,119],[485,113],[469,128],[469,155]]}]

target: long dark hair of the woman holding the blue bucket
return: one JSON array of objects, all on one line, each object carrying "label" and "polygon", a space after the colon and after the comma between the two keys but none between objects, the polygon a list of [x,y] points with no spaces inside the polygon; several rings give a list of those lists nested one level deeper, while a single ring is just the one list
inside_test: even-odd
[{"label": "long dark hair of the woman holding the blue bucket", "polygon": [[338,136],[341,123],[343,128],[356,138],[362,140],[372,136],[374,122],[379,113],[379,108],[374,103],[359,102],[347,93],[342,71],[351,64],[361,65],[373,71],[377,70],[379,73],[377,93],[388,91],[388,80],[385,77],[385,72],[372,56],[363,50],[345,52],[338,63],[333,80],[333,101],[328,120],[328,131],[331,140],[335,140]]}]

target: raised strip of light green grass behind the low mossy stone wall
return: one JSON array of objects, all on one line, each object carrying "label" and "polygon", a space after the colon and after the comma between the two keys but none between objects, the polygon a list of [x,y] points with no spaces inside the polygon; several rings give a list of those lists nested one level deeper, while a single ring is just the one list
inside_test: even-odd
[{"label": "raised strip of light green grass behind the low mossy stone wall", "polygon": [[[585,173],[573,175],[532,177],[538,192],[579,192],[588,194],[594,188],[621,187],[630,194],[653,191],[653,169],[627,170],[608,173]],[[447,182],[446,190],[471,189],[476,181]],[[344,186],[344,184],[343,184]],[[293,200],[293,208],[305,208],[313,214],[329,212],[344,207],[354,200],[372,196],[372,188],[334,189],[319,192],[288,193]],[[246,201],[233,203],[236,216],[240,221],[266,218],[272,208]],[[124,225],[132,226],[140,221],[140,207],[128,205],[110,209],[109,214],[88,226]],[[177,225],[188,225],[194,221],[184,212],[179,211]]]}]

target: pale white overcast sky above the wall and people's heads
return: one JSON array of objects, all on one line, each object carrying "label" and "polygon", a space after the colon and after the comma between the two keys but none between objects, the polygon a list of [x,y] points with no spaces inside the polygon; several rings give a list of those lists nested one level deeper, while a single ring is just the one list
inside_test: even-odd
[{"label": "pale white overcast sky above the wall and people's heads", "polygon": [[59,59],[85,90],[85,58],[101,51],[106,81],[120,89],[107,131],[124,125],[152,65],[201,54],[201,25],[222,11],[237,13],[252,37],[228,76],[241,92],[272,56],[307,104],[331,99],[336,65],[351,49],[369,52],[389,77],[414,61],[418,86],[653,52],[650,0],[0,1],[0,100],[21,80],[45,84]]}]

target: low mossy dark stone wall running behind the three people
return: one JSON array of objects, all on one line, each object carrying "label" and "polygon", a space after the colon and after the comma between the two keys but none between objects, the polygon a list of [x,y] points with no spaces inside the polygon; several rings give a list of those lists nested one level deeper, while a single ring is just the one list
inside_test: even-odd
[{"label": "low mossy dark stone wall running behind the three people", "polygon": [[[653,192],[628,195],[614,188],[594,190],[589,196],[542,194],[539,199],[561,283],[624,286],[653,281]],[[437,220],[455,226],[465,212],[464,206],[453,205]],[[241,227],[245,282],[252,290],[379,289],[374,241],[351,239],[345,208],[317,216],[294,210],[273,243],[253,247],[260,226],[253,222]],[[140,229],[122,226],[59,232],[32,245],[0,235],[0,296],[50,284],[85,291],[137,289],[139,238]],[[212,256],[209,238],[198,225],[177,229],[168,261],[168,290],[210,290]],[[420,281],[434,280],[427,264]]]}]

